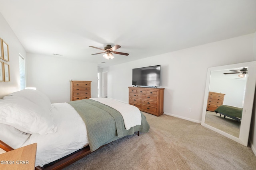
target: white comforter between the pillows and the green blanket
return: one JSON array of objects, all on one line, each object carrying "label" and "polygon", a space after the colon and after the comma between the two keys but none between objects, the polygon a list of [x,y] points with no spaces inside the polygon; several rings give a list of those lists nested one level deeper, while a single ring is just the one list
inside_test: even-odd
[{"label": "white comforter between the pillows and the green blanket", "polygon": [[88,144],[86,126],[76,110],[67,103],[56,103],[52,106],[54,108],[51,115],[57,125],[57,132],[32,134],[23,144],[26,146],[37,143],[36,166],[58,160]]}]

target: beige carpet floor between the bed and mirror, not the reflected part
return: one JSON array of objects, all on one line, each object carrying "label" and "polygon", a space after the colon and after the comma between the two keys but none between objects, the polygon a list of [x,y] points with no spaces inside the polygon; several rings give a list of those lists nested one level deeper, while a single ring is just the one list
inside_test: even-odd
[{"label": "beige carpet floor between the bed and mirror, not the reflected part", "polygon": [[114,141],[64,170],[255,170],[256,156],[198,123],[144,113],[150,132]]}]

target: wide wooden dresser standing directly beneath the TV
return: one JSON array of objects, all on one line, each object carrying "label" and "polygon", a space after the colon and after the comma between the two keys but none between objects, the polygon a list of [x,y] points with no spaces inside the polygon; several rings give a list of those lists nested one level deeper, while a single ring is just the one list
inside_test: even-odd
[{"label": "wide wooden dresser standing directly beneath the TV", "polygon": [[140,111],[160,116],[164,113],[164,88],[128,87],[129,104]]}]

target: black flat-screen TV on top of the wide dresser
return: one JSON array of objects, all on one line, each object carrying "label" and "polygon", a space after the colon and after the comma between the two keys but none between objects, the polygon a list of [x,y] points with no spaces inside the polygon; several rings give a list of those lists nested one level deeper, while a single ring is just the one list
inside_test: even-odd
[{"label": "black flat-screen TV on top of the wide dresser", "polygon": [[161,65],[132,69],[132,85],[160,86]]}]

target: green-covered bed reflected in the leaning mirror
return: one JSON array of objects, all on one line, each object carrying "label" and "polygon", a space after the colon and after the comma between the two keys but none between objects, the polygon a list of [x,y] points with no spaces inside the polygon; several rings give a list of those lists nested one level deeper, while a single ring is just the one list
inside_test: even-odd
[{"label": "green-covered bed reflected in the leaning mirror", "polygon": [[215,113],[220,113],[220,116],[224,115],[224,118],[228,116],[236,121],[241,121],[243,108],[221,105],[214,111]]}]

